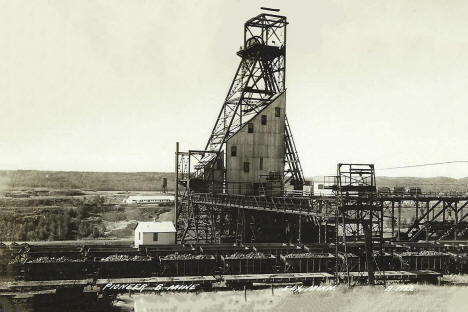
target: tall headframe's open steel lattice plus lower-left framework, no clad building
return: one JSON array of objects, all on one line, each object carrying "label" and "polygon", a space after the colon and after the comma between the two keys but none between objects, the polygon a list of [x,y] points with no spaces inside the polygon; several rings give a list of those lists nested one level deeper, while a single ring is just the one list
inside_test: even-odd
[{"label": "tall headframe's open steel lattice plus lower-left framework, no clad building", "polygon": [[[226,230],[226,211],[192,200],[196,193],[227,193],[226,145],[228,140],[262,109],[286,92],[285,16],[266,9],[244,24],[241,58],[234,79],[204,150],[177,152],[177,230],[180,242],[218,241]],[[302,189],[304,175],[285,116],[282,186]],[[193,169],[191,169],[193,168]],[[280,175],[281,177],[281,172]],[[208,187],[207,187],[208,185]],[[235,215],[234,212],[230,212]]]}]

